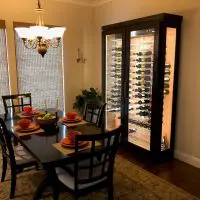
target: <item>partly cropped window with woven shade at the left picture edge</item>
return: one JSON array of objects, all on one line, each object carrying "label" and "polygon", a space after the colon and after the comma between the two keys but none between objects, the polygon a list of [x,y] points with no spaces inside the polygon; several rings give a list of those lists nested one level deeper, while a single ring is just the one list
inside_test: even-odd
[{"label": "partly cropped window with woven shade at the left picture edge", "polygon": [[[9,75],[6,48],[6,30],[4,21],[0,20],[0,96],[9,95]],[[0,97],[1,98],[1,97]],[[0,114],[4,114],[2,99],[0,100]]]}]

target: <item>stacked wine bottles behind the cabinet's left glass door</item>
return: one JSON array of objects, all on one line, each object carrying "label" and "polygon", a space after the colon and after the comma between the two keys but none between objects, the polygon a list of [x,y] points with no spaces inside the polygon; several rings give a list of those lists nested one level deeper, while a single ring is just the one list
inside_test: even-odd
[{"label": "stacked wine bottles behind the cabinet's left glass door", "polygon": [[122,40],[112,38],[107,49],[107,109],[119,111],[121,107]]}]

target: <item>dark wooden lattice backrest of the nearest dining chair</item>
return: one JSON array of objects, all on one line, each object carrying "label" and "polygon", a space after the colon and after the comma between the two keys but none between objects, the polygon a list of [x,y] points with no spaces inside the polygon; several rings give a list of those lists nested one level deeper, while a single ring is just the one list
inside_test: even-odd
[{"label": "dark wooden lattice backrest of the nearest dining chair", "polygon": [[[114,160],[121,132],[122,127],[120,126],[104,134],[76,136],[75,153],[77,159],[74,163],[75,190],[78,190],[81,185],[107,179],[113,174]],[[83,141],[88,141],[90,148],[80,151],[78,144]],[[96,145],[96,143],[101,143],[101,145]],[[83,165],[81,163],[84,160],[88,160],[88,162]],[[84,178],[80,176],[81,174],[84,174]]]}]

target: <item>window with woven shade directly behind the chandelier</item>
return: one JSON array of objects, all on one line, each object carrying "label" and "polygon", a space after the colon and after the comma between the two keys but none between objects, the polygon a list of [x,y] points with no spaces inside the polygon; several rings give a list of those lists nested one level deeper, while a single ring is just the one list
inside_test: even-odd
[{"label": "window with woven shade directly behind the chandelier", "polygon": [[32,94],[32,104],[36,108],[56,107],[64,109],[62,42],[58,48],[49,48],[44,58],[37,49],[27,49],[15,32],[16,59],[19,93]]}]

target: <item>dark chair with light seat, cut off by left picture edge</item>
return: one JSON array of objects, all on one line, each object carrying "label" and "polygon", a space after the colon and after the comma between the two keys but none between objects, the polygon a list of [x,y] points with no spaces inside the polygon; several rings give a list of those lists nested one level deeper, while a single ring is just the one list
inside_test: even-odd
[{"label": "dark chair with light seat, cut off by left picture edge", "polygon": [[[2,118],[0,118],[0,145],[3,158],[1,182],[5,181],[7,165],[9,164],[11,170],[10,198],[14,198],[17,174],[29,167],[35,167],[38,170],[38,163],[24,149],[22,154],[22,146],[20,147],[20,150],[13,148],[11,134],[8,132]],[[19,160],[16,159],[16,154],[20,156]]]}]

